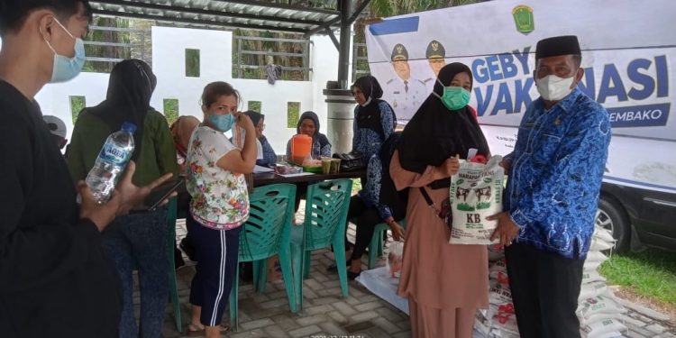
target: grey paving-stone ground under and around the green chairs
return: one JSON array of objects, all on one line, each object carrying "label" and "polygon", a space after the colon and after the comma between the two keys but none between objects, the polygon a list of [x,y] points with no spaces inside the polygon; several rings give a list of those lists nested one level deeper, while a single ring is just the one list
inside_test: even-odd
[{"label": "grey paving-stone ground under and around the green chairs", "polygon": [[[304,208],[301,207],[300,210]],[[297,215],[302,221],[302,212]],[[177,240],[185,236],[185,224],[179,220]],[[348,238],[354,238],[354,225],[348,231]],[[240,284],[239,315],[240,329],[228,333],[233,338],[243,337],[359,337],[359,338],[404,338],[410,337],[408,316],[396,307],[374,296],[356,281],[351,281],[350,297],[341,296],[337,273],[327,272],[333,263],[333,253],[329,250],[313,252],[310,277],[304,284],[304,309],[292,314],[288,309],[288,300],[284,282],[269,282],[265,292],[257,295],[251,283]],[[362,269],[366,269],[366,257],[362,260]],[[385,261],[378,260],[383,266]],[[189,265],[189,263],[188,263]],[[178,332],[174,324],[173,310],[167,306],[167,316],[162,331],[166,338],[187,337],[187,324],[190,321],[189,283],[195,273],[193,266],[178,270],[178,295],[180,297],[182,330]],[[138,293],[134,302],[139,310]],[[628,312],[623,315],[629,331],[629,338],[676,338],[676,327],[669,318],[652,309],[625,301]],[[229,315],[224,315],[227,322]]]}]

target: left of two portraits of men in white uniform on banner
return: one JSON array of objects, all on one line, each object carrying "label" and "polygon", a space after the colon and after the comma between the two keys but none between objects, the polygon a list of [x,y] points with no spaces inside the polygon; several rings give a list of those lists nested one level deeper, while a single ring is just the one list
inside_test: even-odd
[{"label": "left of two portraits of men in white uniform on banner", "polygon": [[423,81],[411,78],[411,67],[408,64],[408,50],[403,44],[397,43],[392,49],[392,67],[397,77],[386,82],[385,90],[388,99],[397,116],[402,120],[409,120],[419,105],[427,98],[427,90]]}]

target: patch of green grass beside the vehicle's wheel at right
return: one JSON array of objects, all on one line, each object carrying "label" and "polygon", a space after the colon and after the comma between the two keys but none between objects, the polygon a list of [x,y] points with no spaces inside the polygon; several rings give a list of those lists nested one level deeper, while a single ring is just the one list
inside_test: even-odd
[{"label": "patch of green grass beside the vehicle's wheel at right", "polygon": [[676,306],[676,252],[649,249],[613,254],[600,272],[608,285],[629,287],[641,296]]}]

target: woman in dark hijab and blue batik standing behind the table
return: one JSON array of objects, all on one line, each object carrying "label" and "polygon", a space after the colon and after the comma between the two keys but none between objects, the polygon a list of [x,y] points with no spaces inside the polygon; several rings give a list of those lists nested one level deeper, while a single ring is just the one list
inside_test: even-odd
[{"label": "woman in dark hijab and blue batik standing behind the table", "polygon": [[394,132],[397,119],[392,107],[380,99],[383,93],[378,79],[370,75],[358,78],[351,90],[358,104],[354,107],[352,150],[361,152],[361,159],[368,162]]}]

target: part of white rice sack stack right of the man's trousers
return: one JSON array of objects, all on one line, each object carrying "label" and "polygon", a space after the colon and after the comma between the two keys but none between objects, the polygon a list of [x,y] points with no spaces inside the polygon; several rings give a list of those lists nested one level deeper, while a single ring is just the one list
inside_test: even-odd
[{"label": "part of white rice sack stack right of the man's trousers", "polygon": [[615,246],[612,234],[596,227],[591,245],[584,261],[582,286],[576,311],[580,319],[582,338],[610,338],[626,333],[620,315],[626,312],[617,302],[613,291],[607,288],[606,279],[598,273],[601,263],[607,260],[601,251],[610,251]]}]

